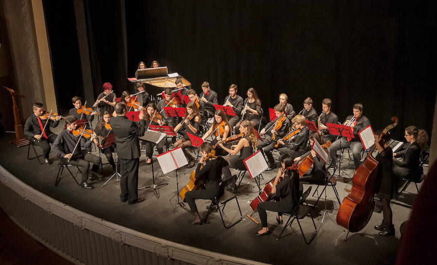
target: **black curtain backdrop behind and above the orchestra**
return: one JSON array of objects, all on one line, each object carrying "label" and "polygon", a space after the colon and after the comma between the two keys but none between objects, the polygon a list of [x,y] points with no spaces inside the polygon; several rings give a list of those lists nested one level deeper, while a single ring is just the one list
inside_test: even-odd
[{"label": "black curtain backdrop behind and above the orchestra", "polygon": [[[70,107],[72,91],[84,95],[76,21],[73,1],[62,1],[68,8],[61,14],[57,2],[44,0],[44,8],[58,101]],[[138,62],[150,67],[158,60],[198,92],[208,81],[221,103],[236,83],[243,98],[254,87],[265,110],[285,92],[297,112],[306,97],[318,113],[321,100],[331,98],[340,120],[362,102],[374,130],[398,116],[397,139],[409,125],[432,129],[437,27],[431,1],[84,0],[84,6],[95,96],[104,82],[118,95],[132,90],[126,78]],[[69,78],[65,67],[72,68]]]}]

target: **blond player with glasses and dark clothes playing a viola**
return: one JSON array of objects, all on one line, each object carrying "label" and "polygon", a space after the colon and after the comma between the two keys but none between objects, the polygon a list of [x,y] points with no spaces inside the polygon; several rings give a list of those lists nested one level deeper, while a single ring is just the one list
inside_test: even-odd
[{"label": "blond player with glasses and dark clothes playing a viola", "polygon": [[306,151],[307,143],[308,143],[308,137],[309,137],[309,128],[306,126],[306,120],[303,115],[296,115],[294,118],[291,119],[292,127],[295,128],[295,130],[300,129],[301,131],[291,137],[291,142],[284,143],[280,139],[278,140],[278,143],[285,146],[286,149],[279,150],[279,153],[281,155],[288,153],[293,157],[300,156]]}]

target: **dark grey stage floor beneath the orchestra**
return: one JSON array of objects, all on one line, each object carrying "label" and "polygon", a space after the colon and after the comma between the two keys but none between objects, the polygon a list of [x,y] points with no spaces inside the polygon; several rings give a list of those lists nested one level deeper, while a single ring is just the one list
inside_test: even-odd
[{"label": "dark grey stage floor beneath the orchestra", "polygon": [[[63,128],[61,125],[58,128]],[[53,131],[58,132],[58,128]],[[168,183],[168,185],[159,188],[159,198],[150,192],[150,189],[139,190],[139,197],[144,197],[146,200],[139,204],[128,205],[120,202],[120,187],[115,179],[104,187],[101,186],[104,181],[94,182],[95,189],[86,190],[73,182],[65,172],[64,176],[67,177],[63,178],[57,187],[54,186],[58,160],[55,159],[53,153],[50,153],[52,160],[50,166],[39,165],[36,159],[26,159],[27,146],[17,148],[9,143],[12,137],[13,134],[8,134],[7,137],[0,139],[1,166],[21,181],[54,199],[85,213],[139,232],[196,248],[269,264],[393,264],[400,238],[399,227],[405,220],[408,220],[411,205],[416,197],[415,194],[404,193],[399,200],[392,201],[396,237],[380,236],[378,231],[373,229],[373,226],[382,220],[381,207],[377,202],[368,225],[359,233],[349,234],[348,241],[344,241],[345,229],[335,223],[339,205],[333,189],[328,187],[326,201],[328,215],[321,223],[325,203],[323,199],[320,199],[318,207],[312,211],[312,214],[315,216],[316,226],[319,228],[321,225],[321,227],[317,237],[308,246],[303,241],[297,222],[294,222],[291,228],[286,229],[288,235],[276,240],[276,236],[283,228],[283,225],[278,225],[275,220],[276,213],[268,212],[269,228],[273,231],[272,234],[262,237],[254,235],[260,229],[260,225],[245,216],[252,213],[249,203],[258,195],[258,188],[250,177],[244,178],[237,192],[243,213],[242,222],[230,229],[225,229],[218,212],[213,212],[210,215],[209,224],[194,226],[188,224],[188,220],[193,219],[192,215],[178,206],[177,200],[170,200],[177,190],[175,173],[171,172],[167,175],[163,175],[161,171],[157,173],[160,167],[156,159],[154,159],[155,174],[157,173],[156,184]],[[36,149],[40,153],[40,149]],[[344,161],[345,172],[352,176],[353,162]],[[103,162],[106,162],[106,159],[103,159]],[[179,189],[188,182],[193,170],[194,168],[182,168],[178,172]],[[264,180],[261,182],[268,182],[275,173],[276,170],[264,172]],[[103,175],[110,176],[111,174],[111,166],[104,166]],[[236,174],[236,171],[233,171],[233,174]],[[347,196],[344,189],[351,188],[351,181],[347,178],[337,179],[336,188],[341,201]],[[143,153],[140,159],[138,186],[150,186],[151,184],[151,166],[145,164]],[[307,187],[308,185],[304,185],[304,190]],[[315,187],[313,186],[313,190]],[[321,188],[319,190],[321,191]],[[414,185],[410,185],[407,191],[416,193]],[[307,202],[311,204],[316,199],[310,195]],[[197,200],[201,214],[206,213],[206,206],[209,203],[209,200]],[[239,217],[237,212],[236,204],[230,202],[225,208],[225,218],[236,220]],[[259,221],[257,213],[253,217]],[[314,232],[311,218],[304,218],[301,224],[303,224],[305,235],[309,237]]]}]

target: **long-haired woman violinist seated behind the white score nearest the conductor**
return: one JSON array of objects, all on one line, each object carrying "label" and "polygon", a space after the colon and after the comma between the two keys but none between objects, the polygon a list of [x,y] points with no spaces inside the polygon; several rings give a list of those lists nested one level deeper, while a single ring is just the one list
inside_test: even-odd
[{"label": "long-haired woman violinist seated behind the white score nearest the conductor", "polygon": [[178,148],[178,147],[182,148],[185,157],[188,160],[188,167],[193,167],[196,161],[194,157],[188,151],[186,151],[186,148],[191,146],[190,138],[186,133],[189,132],[194,136],[199,136],[199,129],[201,123],[202,123],[202,118],[199,113],[199,109],[197,108],[196,103],[191,101],[186,105],[185,117],[174,128],[175,132],[178,132],[179,129],[181,128],[183,130],[180,133],[184,136],[174,143],[174,148]]}]

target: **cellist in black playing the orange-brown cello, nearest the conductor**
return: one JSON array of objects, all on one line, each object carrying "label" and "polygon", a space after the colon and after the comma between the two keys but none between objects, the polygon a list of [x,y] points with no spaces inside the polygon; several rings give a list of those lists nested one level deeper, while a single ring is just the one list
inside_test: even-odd
[{"label": "cellist in black playing the orange-brown cello, nearest the conductor", "polygon": [[189,221],[192,225],[201,225],[203,223],[197,210],[195,199],[214,199],[218,193],[218,183],[221,181],[221,170],[223,166],[228,164],[221,156],[208,156],[212,150],[212,145],[208,142],[203,142],[199,148],[202,157],[197,165],[195,178],[196,180],[199,178],[204,179],[205,189],[192,190],[185,193],[185,200],[190,206],[191,213],[195,216],[194,220]]}]

